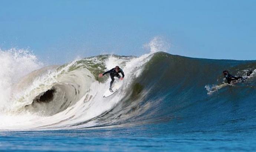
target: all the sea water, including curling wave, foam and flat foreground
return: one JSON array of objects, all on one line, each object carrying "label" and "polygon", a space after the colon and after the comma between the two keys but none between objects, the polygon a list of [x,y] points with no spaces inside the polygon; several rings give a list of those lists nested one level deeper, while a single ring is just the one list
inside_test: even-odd
[{"label": "all the sea water, including curling wave, foam and flat foreground", "polygon": [[[151,52],[45,67],[24,50],[0,59],[0,151],[256,150],[256,61]],[[97,76],[116,65],[122,87],[102,98],[110,78]],[[228,85],[223,70],[246,80]]]}]

